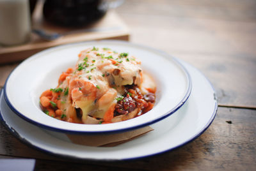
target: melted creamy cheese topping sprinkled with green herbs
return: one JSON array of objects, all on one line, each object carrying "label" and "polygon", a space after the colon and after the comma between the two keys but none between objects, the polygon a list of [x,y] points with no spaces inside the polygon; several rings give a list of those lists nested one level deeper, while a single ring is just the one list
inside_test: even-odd
[{"label": "melted creamy cheese topping sprinkled with green herbs", "polygon": [[[61,97],[67,101],[61,108],[81,108],[83,123],[88,115],[102,119],[123,93],[120,87],[132,84],[141,84],[140,61],[103,48],[88,48],[79,54],[75,72],[60,85],[69,89],[68,97]],[[70,117],[76,117],[71,113]]]}]

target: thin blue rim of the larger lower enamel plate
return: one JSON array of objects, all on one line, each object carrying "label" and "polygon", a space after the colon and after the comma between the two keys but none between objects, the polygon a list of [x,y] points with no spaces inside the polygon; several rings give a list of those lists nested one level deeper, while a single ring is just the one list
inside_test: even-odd
[{"label": "thin blue rim of the larger lower enamel plate", "polygon": [[[190,65],[190,64],[189,64]],[[196,69],[197,70],[197,69]],[[204,74],[200,71],[200,70],[197,70],[199,71],[203,76]],[[182,143],[182,144],[179,144],[175,147],[172,147],[170,149],[166,149],[165,151],[161,151],[161,152],[156,152],[154,154],[149,154],[149,155],[145,155],[145,156],[140,156],[140,157],[136,157],[136,158],[125,158],[125,159],[122,159],[121,161],[127,161],[127,160],[140,160],[140,159],[143,159],[143,158],[149,158],[151,156],[156,156],[156,155],[159,155],[159,154],[163,154],[165,152],[169,152],[169,151],[173,151],[175,149],[178,149],[179,147],[182,147],[183,145],[186,145],[188,144],[189,142],[195,140],[197,137],[200,137],[200,135],[202,135],[204,133],[205,130],[207,130],[207,128],[209,128],[209,126],[211,125],[212,121],[214,121],[214,118],[216,117],[216,113],[217,113],[217,110],[218,110],[218,100],[216,99],[216,91],[213,87],[213,85],[211,84],[211,82],[209,81],[208,78],[205,77],[205,79],[207,80],[207,82],[211,85],[212,87],[212,91],[214,92],[214,101],[215,101],[215,105],[214,105],[214,110],[212,112],[212,115],[211,115],[211,118],[209,119],[209,121],[207,122],[207,124],[205,124],[204,128],[202,128],[202,130],[198,131],[198,134],[196,134],[195,136],[191,137],[189,140],[187,140],[186,142]],[[0,90],[0,96],[1,96],[1,92],[3,91],[3,89]],[[61,156],[62,158],[68,158],[68,159],[71,159],[71,160],[80,160],[80,161],[83,161],[83,160],[90,160],[90,161],[120,161],[120,160],[97,160],[97,159],[94,159],[94,158],[77,158],[75,156],[69,156],[69,155],[63,155],[63,154],[56,154],[52,151],[47,151],[45,149],[42,149],[40,147],[37,147],[31,143],[29,143],[28,140],[26,140],[25,138],[22,138],[19,133],[17,133],[17,131],[13,130],[10,126],[8,126],[8,124],[6,123],[6,121],[4,121],[3,119],[3,116],[1,114],[1,110],[0,110],[0,120],[1,120],[1,123],[3,123],[4,127],[15,137],[17,138],[18,140],[20,140],[20,142],[23,142],[24,144],[28,145],[29,147],[33,148],[33,149],[36,149],[38,151],[42,151],[42,152],[45,152],[47,154],[51,154],[53,156]]]}]

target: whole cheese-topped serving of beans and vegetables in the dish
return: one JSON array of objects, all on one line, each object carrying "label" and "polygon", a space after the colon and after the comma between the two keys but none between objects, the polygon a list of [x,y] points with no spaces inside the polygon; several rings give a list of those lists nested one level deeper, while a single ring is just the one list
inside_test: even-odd
[{"label": "whole cheese-topped serving of beans and vegetables in the dish", "polygon": [[156,84],[126,52],[87,48],[58,86],[44,91],[45,114],[70,123],[106,124],[132,119],[154,107]]}]

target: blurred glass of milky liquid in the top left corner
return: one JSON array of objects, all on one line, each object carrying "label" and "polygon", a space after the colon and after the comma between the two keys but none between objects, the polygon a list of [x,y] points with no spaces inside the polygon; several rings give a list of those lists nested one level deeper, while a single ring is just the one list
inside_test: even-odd
[{"label": "blurred glass of milky liquid in the top left corner", "polygon": [[30,32],[29,1],[0,0],[0,44],[26,43]]}]

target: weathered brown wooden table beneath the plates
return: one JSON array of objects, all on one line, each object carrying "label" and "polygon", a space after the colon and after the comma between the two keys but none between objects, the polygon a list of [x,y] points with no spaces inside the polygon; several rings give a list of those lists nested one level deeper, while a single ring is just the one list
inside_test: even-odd
[{"label": "weathered brown wooden table beneath the plates", "polygon": [[[256,1],[129,0],[116,11],[131,42],[164,50],[209,78],[219,107],[208,130],[159,156],[97,162],[36,151],[1,125],[0,158],[35,158],[36,170],[256,170]],[[1,85],[15,66],[1,65]]]}]

